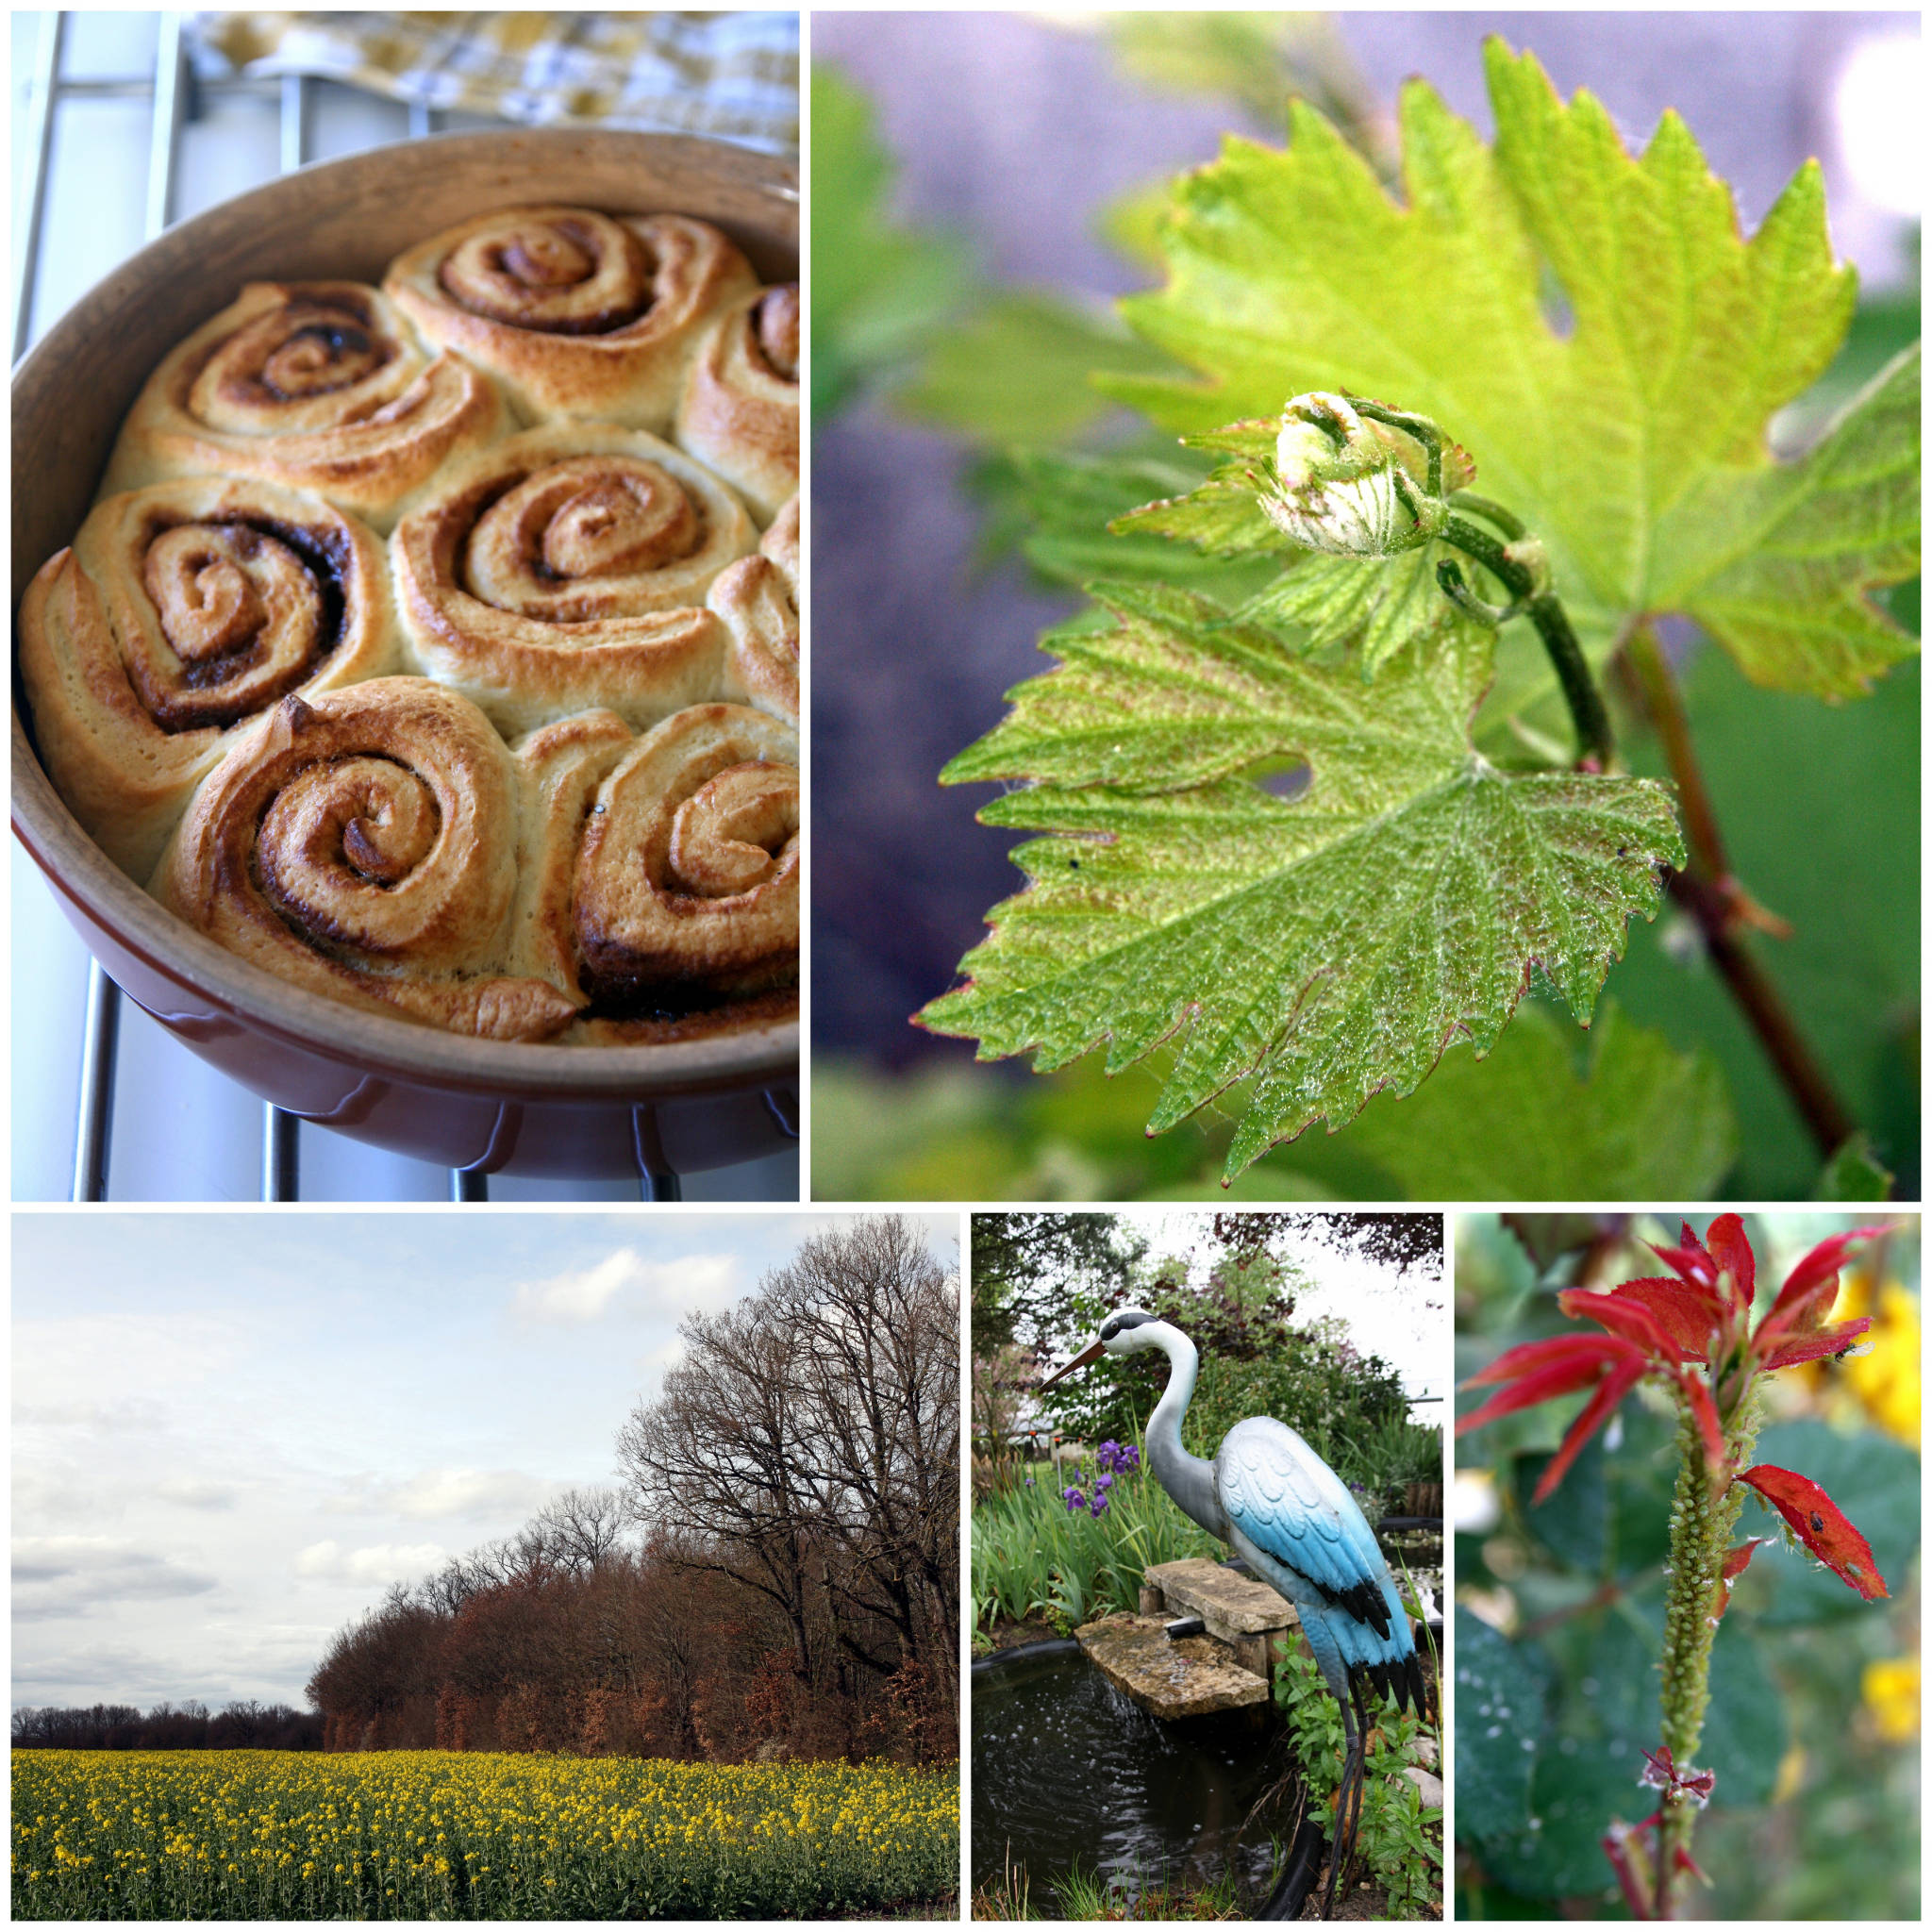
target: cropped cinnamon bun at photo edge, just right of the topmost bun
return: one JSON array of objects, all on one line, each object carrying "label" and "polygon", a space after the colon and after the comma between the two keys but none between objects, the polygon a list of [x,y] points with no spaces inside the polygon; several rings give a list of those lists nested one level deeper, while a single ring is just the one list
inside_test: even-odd
[{"label": "cropped cinnamon bun at photo edge, just right of the topmost bun", "polygon": [[759,524],[798,495],[798,284],[759,288],[711,325],[678,402],[676,440],[734,485]]}]

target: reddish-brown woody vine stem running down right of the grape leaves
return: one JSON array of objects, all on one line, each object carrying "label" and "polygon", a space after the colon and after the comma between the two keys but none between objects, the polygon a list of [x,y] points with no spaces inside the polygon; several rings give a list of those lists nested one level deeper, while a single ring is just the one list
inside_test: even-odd
[{"label": "reddish-brown woody vine stem running down right of the grape leaves", "polygon": [[1685,842],[1690,864],[1671,873],[1669,893],[1696,920],[1704,951],[1723,980],[1731,999],[1758,1036],[1772,1070],[1791,1095],[1806,1130],[1822,1157],[1830,1159],[1857,1132],[1857,1122],[1845,1111],[1837,1090],[1820,1066],[1810,1043],[1799,1032],[1777,987],[1772,985],[1756,956],[1745,945],[1741,927],[1789,933],[1789,925],[1764,912],[1731,877],[1718,831],[1718,813],[1704,773],[1690,744],[1690,726],[1671,667],[1663,659],[1648,624],[1638,624],[1625,638],[1623,661],[1631,670],[1644,711],[1663,746],[1671,782],[1685,813]]}]

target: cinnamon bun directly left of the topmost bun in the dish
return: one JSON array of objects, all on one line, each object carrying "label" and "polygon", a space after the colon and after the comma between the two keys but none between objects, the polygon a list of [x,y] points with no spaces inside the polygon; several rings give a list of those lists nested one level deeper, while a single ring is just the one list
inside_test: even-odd
[{"label": "cinnamon bun directly left of the topmost bun in the dish", "polygon": [[249,282],[147,379],[102,495],[249,475],[388,531],[446,462],[516,425],[495,381],[423,348],[359,282]]}]

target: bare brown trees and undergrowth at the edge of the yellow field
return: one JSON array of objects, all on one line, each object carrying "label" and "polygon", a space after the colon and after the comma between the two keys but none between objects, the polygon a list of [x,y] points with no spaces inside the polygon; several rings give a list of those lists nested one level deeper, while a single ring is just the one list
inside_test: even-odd
[{"label": "bare brown trees and undergrowth at the edge of the yellow field", "polygon": [[340,1631],[325,1748],[958,1750],[958,1293],[910,1223],[808,1240],[572,1490]]}]

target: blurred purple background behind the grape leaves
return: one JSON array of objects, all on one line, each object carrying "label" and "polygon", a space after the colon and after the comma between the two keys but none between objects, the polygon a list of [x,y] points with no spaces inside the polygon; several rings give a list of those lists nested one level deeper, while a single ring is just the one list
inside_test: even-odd
[{"label": "blurred purple background behind the grape leaves", "polygon": [[[1588,87],[1642,145],[1665,106],[1689,122],[1754,226],[1791,174],[1826,166],[1833,240],[1866,284],[1917,276],[1911,228],[1853,168],[1870,128],[1839,126],[1855,50],[1915,35],[1917,14],[1343,14],[1378,102],[1426,73],[1492,131],[1482,41],[1528,46],[1565,93]],[[1094,240],[1109,201],[1208,160],[1229,128],[1279,141],[1223,102],[1150,95],[1097,31],[1007,14],[813,14],[813,60],[873,99],[900,168],[900,213],[964,236],[981,270],[1068,294],[1146,278]],[[1847,137],[1849,133],[1849,137]],[[1915,176],[1917,178],[1917,176]],[[964,450],[866,406],[817,431],[813,609],[813,1047],[887,1065],[945,1055],[906,1016],[952,983],[985,910],[1016,891],[1014,835],[974,823],[983,786],[939,767],[1047,668],[1037,632],[1074,597],[1012,566],[972,570],[980,520]]]}]

